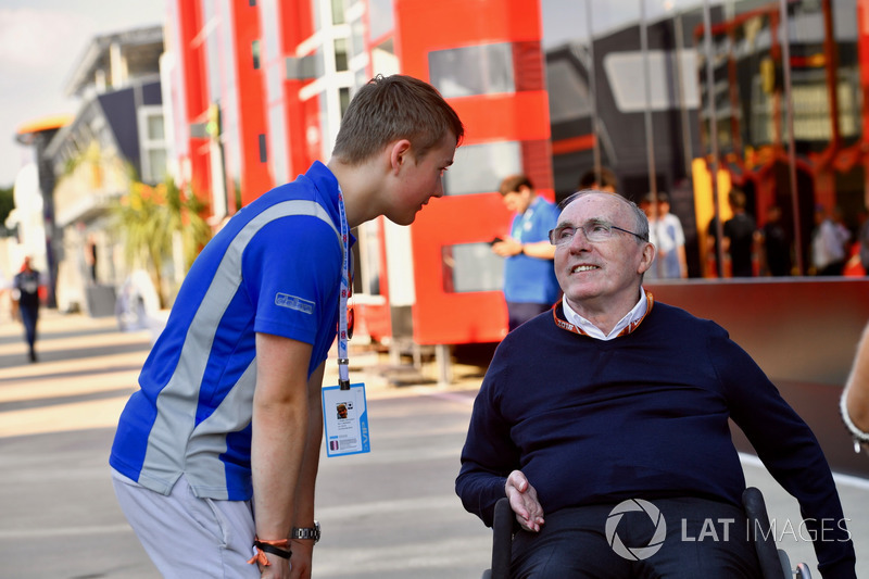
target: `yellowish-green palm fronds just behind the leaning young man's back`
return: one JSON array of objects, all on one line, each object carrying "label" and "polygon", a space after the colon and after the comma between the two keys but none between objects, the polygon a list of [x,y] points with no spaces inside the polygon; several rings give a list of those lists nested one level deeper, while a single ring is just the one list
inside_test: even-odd
[{"label": "yellowish-green palm fronds just behind the leaning young man's back", "polygon": [[[202,218],[206,206],[172,178],[155,187],[133,181],[129,192],[112,207],[115,227],[124,239],[127,265],[149,270],[161,292],[164,264],[173,255],[175,239],[180,238],[187,272],[211,238],[211,227]],[[166,301],[162,294],[161,301]]]}]

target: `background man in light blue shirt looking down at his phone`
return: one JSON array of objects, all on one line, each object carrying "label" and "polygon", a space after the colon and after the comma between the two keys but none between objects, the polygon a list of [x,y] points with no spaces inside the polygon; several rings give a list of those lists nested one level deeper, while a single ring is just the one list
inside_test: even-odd
[{"label": "background man in light blue shirt looking down at his phone", "polygon": [[492,243],[492,251],[505,257],[504,299],[507,302],[508,331],[547,311],[558,299],[558,280],[552,269],[555,248],[549,230],[555,226],[558,211],[537,194],[525,175],[501,181],[499,191],[513,214],[509,236]]}]

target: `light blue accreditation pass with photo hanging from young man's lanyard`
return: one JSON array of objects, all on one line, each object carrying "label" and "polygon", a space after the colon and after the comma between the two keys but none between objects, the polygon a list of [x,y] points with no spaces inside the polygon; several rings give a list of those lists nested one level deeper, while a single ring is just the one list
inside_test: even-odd
[{"label": "light blue accreditation pass with photo hanging from young man's lanyard", "polygon": [[371,452],[365,385],[323,389],[323,426],[326,429],[326,456]]}]

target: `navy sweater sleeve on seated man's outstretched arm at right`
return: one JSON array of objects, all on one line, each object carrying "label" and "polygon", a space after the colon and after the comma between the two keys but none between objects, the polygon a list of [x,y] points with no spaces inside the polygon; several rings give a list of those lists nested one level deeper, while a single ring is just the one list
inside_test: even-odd
[{"label": "navy sweater sleeve on seated man's outstretched arm at right", "polygon": [[[719,328],[720,329],[720,328]],[[733,421],[774,479],[799,503],[824,578],[856,578],[856,555],[830,466],[808,425],[722,329],[708,352]]]}]

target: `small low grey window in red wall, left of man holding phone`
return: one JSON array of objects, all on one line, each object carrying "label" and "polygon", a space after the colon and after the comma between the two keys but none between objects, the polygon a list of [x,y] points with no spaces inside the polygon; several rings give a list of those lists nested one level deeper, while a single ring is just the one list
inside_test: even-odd
[{"label": "small low grey window in red wall, left of man holding phone", "polygon": [[504,259],[492,253],[489,243],[461,243],[441,249],[443,291],[502,291]]}]

